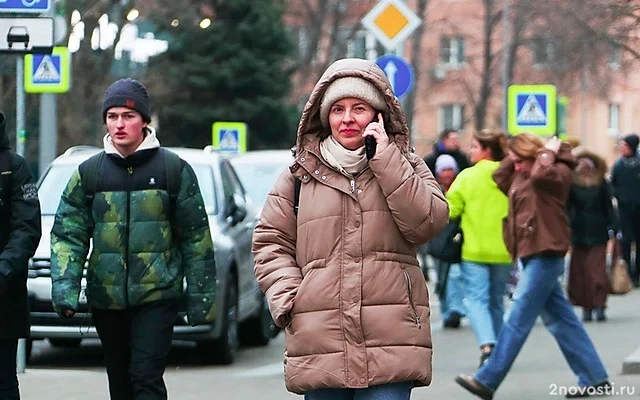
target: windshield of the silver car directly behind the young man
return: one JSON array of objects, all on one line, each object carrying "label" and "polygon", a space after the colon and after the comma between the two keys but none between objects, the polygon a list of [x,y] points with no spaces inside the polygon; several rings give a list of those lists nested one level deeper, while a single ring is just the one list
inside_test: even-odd
[{"label": "windshield of the silver car directly behind the young man", "polygon": [[[211,167],[206,164],[191,164],[191,167],[193,167],[198,178],[198,184],[200,185],[200,191],[202,192],[207,214],[217,214],[218,207],[215,200],[215,187],[213,186]],[[62,192],[77,168],[77,165],[67,164],[53,165],[49,169],[38,188],[42,215],[55,215],[58,210],[60,197],[62,197]]]}]

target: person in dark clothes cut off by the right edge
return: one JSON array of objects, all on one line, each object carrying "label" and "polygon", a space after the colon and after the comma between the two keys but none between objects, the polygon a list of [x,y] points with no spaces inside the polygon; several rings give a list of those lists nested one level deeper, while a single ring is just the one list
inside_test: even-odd
[{"label": "person in dark clothes cut off by the right edge", "polygon": [[[622,257],[629,265],[629,275],[635,287],[640,286],[640,257],[631,264],[631,245],[640,249],[640,158],[638,157],[640,138],[636,134],[627,135],[618,143],[620,158],[611,171],[611,187],[618,201],[620,230],[622,234]],[[638,250],[636,250],[638,252]]]}]

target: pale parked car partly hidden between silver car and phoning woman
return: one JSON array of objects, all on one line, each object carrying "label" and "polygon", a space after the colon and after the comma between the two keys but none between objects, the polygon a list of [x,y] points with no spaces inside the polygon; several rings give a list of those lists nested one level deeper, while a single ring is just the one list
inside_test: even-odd
[{"label": "pale parked car partly hidden between silver car and phoning woman", "polygon": [[262,210],[276,179],[293,164],[294,159],[292,150],[256,150],[230,160],[253,205]]}]

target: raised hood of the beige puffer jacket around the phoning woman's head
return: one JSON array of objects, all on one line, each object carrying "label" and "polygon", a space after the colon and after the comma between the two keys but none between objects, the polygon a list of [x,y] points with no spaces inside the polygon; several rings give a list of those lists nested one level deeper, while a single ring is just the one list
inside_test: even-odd
[{"label": "raised hood of the beige puffer jacket around the phoning woman's head", "polygon": [[331,64],[313,88],[309,100],[302,111],[298,124],[297,154],[331,134],[329,128],[322,126],[320,120],[320,102],[327,87],[336,79],[358,77],[373,83],[384,96],[387,104],[384,124],[389,140],[394,142],[403,154],[409,152],[409,127],[402,112],[400,102],[393,94],[391,83],[384,71],[372,61],[357,58],[345,58]]}]

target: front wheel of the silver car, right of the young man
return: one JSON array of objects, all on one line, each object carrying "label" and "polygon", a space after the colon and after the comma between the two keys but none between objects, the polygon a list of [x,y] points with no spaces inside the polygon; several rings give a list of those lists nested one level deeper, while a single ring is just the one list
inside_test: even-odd
[{"label": "front wheel of the silver car, right of the young man", "polygon": [[198,349],[206,361],[216,364],[231,364],[238,353],[238,289],[235,276],[229,276],[222,333],[218,339],[199,342]]}]

